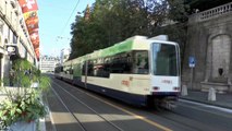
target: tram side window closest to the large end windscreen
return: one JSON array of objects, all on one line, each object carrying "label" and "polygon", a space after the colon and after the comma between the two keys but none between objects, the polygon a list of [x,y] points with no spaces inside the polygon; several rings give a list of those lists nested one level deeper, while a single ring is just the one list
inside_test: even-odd
[{"label": "tram side window closest to the large end windscreen", "polygon": [[133,73],[135,74],[149,73],[148,51],[134,51]]}]

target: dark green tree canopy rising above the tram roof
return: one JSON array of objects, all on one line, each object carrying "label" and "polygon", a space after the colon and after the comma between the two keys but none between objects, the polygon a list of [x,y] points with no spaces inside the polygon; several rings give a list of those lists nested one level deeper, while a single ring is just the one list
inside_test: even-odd
[{"label": "dark green tree canopy rising above the tram roof", "polygon": [[[171,40],[184,44],[187,9],[184,0],[96,0],[72,24],[70,59],[134,35],[166,34]],[[163,27],[167,22],[181,24]]]}]

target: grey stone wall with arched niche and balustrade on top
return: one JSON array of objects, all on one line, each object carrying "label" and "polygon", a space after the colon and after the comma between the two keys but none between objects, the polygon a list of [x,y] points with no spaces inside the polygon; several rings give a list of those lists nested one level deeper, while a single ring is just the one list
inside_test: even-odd
[{"label": "grey stone wall with arched niche and balustrade on top", "polygon": [[[187,32],[183,84],[193,90],[232,92],[232,2],[191,15]],[[193,73],[190,57],[196,61]]]}]

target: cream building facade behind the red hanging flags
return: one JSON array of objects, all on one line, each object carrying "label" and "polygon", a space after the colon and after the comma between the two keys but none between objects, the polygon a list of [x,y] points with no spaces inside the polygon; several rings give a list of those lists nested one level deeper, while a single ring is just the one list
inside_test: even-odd
[{"label": "cream building facade behind the red hanging flags", "polygon": [[35,51],[17,0],[0,0],[0,78],[9,76],[14,59],[37,66]]}]

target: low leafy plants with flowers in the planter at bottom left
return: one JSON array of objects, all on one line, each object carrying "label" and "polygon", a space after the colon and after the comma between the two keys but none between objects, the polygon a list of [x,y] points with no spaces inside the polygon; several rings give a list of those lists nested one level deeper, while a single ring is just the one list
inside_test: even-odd
[{"label": "low leafy plants with flowers in the planter at bottom left", "polygon": [[45,117],[47,109],[36,97],[35,91],[26,96],[17,96],[15,99],[7,99],[0,106],[0,129],[5,129],[12,123],[23,120],[30,122]]}]

